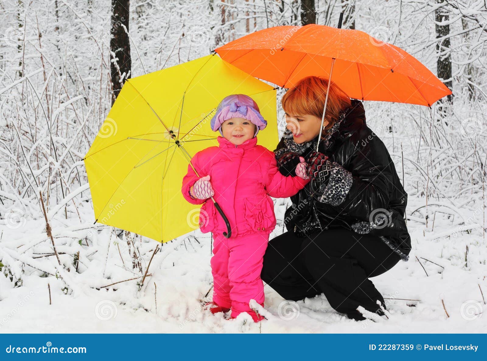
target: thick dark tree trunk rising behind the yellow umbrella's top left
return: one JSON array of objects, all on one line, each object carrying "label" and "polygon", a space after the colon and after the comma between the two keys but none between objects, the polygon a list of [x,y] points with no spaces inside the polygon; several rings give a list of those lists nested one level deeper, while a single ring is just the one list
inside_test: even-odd
[{"label": "thick dark tree trunk rising behind the yellow umbrella's top left", "polygon": [[[125,80],[131,77],[129,31],[130,0],[112,0],[112,30],[110,38],[110,74],[112,77],[112,105]],[[127,32],[123,28],[127,28]]]}]

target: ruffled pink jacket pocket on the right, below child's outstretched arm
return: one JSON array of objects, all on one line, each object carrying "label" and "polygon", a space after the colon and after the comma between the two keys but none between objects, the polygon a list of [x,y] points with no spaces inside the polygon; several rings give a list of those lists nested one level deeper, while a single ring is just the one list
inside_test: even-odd
[{"label": "ruffled pink jacket pocket on the right, below child's outstretched arm", "polygon": [[270,197],[244,199],[245,222],[254,231],[266,231],[276,226],[274,202]]}]

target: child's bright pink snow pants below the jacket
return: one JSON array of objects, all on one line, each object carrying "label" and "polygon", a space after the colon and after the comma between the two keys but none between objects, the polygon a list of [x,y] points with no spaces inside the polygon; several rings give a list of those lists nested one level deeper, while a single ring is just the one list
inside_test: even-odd
[{"label": "child's bright pink snow pants below the jacket", "polygon": [[213,302],[231,308],[232,317],[247,312],[254,321],[257,315],[249,307],[251,299],[264,306],[261,279],[262,260],[269,242],[268,234],[237,235],[225,238],[213,233]]}]

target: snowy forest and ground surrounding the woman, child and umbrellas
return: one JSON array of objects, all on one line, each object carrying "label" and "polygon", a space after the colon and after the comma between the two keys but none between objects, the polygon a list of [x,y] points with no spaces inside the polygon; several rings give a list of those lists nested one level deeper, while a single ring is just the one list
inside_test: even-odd
[{"label": "snowy forest and ground surrounding the woman, child and umbrellas", "polygon": [[[486,332],[486,6],[0,0],[0,331]],[[343,28],[404,49],[454,94],[431,108],[364,102],[409,195],[410,260],[372,279],[393,317],[353,322],[323,295],[286,302],[266,286],[268,321],[225,321],[200,303],[212,281],[210,234],[164,244],[146,272],[158,243],[94,224],[82,158],[126,78],[267,27],[337,26],[340,12]],[[271,238],[289,205],[275,201]]]}]

